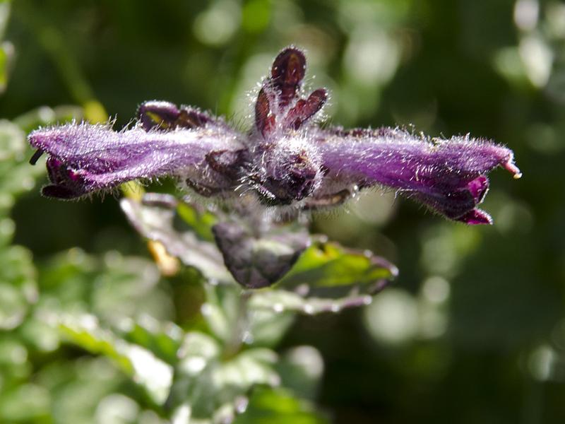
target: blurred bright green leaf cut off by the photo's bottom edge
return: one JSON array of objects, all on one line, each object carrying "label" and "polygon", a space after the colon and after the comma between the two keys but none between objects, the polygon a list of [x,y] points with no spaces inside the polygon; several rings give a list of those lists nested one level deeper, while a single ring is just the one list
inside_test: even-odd
[{"label": "blurred bright green leaf cut off by the photo's bottom edge", "polygon": [[246,411],[234,424],[323,424],[329,420],[317,413],[308,401],[296,399],[284,389],[257,387]]}]

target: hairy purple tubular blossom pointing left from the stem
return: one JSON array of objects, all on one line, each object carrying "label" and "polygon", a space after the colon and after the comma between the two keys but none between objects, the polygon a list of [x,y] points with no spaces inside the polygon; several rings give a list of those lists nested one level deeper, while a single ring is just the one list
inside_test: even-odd
[{"label": "hairy purple tubular blossom pointing left from the stem", "polygon": [[[161,118],[155,126],[150,118]],[[237,168],[241,136],[225,123],[196,110],[166,102],[140,108],[140,124],[113,131],[109,125],[66,124],[38,129],[29,136],[37,148],[31,162],[45,152],[52,184],[45,196],[73,199],[110,189],[132,179],[175,175],[210,194],[232,189],[229,172]],[[232,165],[234,167],[232,168]]]}]

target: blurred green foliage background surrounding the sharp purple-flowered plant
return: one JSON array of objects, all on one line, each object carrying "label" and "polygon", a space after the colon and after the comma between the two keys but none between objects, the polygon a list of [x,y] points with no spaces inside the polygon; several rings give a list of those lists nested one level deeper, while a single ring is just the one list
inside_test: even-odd
[{"label": "blurred green foliage background surrounding the sharp purple-flowered plant", "polygon": [[[236,423],[564,422],[563,2],[18,0],[0,2],[0,35],[1,423],[238,408]],[[239,293],[190,268],[161,276],[112,196],[42,199],[25,134],[106,113],[123,126],[150,99],[246,128],[289,44],[331,90],[328,122],[495,139],[524,177],[492,175],[491,228],[372,192],[315,216],[315,232],[395,263],[396,287],[297,319],[261,312],[291,301],[266,293],[242,349]],[[210,237],[210,217],[179,215]]]}]

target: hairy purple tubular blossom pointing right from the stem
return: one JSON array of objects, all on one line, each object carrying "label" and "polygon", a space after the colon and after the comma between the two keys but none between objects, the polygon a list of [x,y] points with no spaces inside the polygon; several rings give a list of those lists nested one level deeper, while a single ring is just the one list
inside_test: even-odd
[{"label": "hairy purple tubular blossom pointing right from the stem", "polygon": [[489,214],[476,207],[489,189],[487,172],[501,165],[515,178],[521,177],[512,151],[469,136],[444,140],[414,136],[402,129],[331,129],[319,130],[316,140],[323,168],[328,170],[314,193],[319,199],[351,190],[347,184],[355,189],[378,184],[447,218],[490,224]]}]

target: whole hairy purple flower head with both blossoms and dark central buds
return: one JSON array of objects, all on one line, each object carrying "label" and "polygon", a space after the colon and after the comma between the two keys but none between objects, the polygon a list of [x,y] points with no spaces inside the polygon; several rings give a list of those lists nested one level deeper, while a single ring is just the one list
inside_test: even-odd
[{"label": "whole hairy purple flower head with both blossoms and dark central buds", "polygon": [[73,199],[132,179],[171,175],[206,197],[254,195],[267,207],[324,208],[359,189],[388,187],[468,224],[491,223],[477,208],[495,167],[521,173],[509,148],[455,136],[430,139],[403,129],[316,124],[328,93],[304,95],[306,59],[287,47],[261,84],[248,134],[192,107],[145,102],[133,128],[73,123],[38,129],[32,163],[47,153],[45,196]]}]

